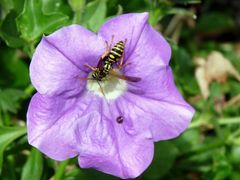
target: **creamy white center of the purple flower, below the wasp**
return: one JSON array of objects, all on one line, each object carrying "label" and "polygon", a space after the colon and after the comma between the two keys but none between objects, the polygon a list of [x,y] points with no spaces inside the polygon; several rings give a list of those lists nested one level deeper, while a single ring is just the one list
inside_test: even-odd
[{"label": "creamy white center of the purple flower, below the wasp", "polygon": [[108,101],[117,99],[127,90],[127,82],[114,76],[108,75],[103,81],[93,80],[92,73],[88,77],[87,89]]}]

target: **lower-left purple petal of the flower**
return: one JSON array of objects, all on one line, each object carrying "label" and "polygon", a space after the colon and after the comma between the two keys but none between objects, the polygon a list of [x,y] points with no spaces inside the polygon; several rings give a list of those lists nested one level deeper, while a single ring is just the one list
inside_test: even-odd
[{"label": "lower-left purple petal of the flower", "polygon": [[76,99],[32,97],[27,112],[28,141],[55,160],[76,156],[76,140],[71,130],[76,116],[71,115]]}]

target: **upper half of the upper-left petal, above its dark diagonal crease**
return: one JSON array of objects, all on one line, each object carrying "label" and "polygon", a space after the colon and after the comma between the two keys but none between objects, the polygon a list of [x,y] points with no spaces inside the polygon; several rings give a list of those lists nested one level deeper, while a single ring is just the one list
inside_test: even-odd
[{"label": "upper half of the upper-left petal, above its dark diagonal crease", "polygon": [[106,50],[105,41],[80,25],[66,26],[47,36],[47,40],[79,69],[96,66]]}]

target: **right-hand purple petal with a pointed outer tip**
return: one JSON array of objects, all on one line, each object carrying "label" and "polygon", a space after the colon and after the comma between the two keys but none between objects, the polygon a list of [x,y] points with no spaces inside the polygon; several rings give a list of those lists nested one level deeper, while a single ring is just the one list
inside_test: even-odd
[{"label": "right-hand purple petal with a pointed outer tip", "polygon": [[178,136],[188,127],[194,114],[194,109],[178,92],[169,67],[135,86],[129,85],[129,92],[116,104],[136,133],[149,137],[150,131],[154,141]]}]

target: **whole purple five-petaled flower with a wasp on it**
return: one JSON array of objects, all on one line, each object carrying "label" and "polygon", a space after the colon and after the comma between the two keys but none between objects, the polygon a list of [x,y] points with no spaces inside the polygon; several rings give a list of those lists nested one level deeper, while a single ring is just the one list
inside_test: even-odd
[{"label": "whole purple five-petaled flower with a wasp on it", "polygon": [[[151,163],[155,141],[187,128],[194,110],[174,84],[169,44],[147,20],[147,13],[125,14],[98,34],[71,25],[42,38],[30,65],[38,91],[27,113],[31,145],[55,160],[78,156],[82,168],[134,178]],[[141,81],[81,80],[112,35],[113,44],[127,39],[121,73]]]}]

